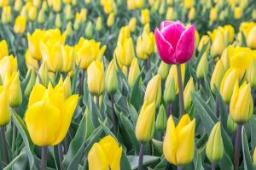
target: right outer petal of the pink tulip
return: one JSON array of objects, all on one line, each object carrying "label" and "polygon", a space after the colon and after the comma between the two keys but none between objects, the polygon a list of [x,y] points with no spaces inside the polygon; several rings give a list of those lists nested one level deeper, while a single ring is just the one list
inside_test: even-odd
[{"label": "right outer petal of the pink tulip", "polygon": [[185,63],[193,56],[195,51],[195,26],[183,31],[175,51],[177,63]]}]

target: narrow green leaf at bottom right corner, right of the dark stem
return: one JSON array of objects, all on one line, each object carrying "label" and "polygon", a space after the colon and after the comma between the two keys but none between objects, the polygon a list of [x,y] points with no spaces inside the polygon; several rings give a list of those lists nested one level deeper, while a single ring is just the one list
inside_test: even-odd
[{"label": "narrow green leaf at bottom right corner, right of the dark stem", "polygon": [[241,131],[241,145],[242,145],[242,154],[244,159],[244,169],[254,169],[252,156],[250,155],[247,133],[245,132],[244,127]]}]

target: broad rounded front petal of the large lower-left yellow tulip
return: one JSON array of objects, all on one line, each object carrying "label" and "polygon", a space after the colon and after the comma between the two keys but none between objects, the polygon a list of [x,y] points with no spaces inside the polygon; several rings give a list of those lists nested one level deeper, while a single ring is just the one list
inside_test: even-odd
[{"label": "broad rounded front petal of the large lower-left yellow tulip", "polygon": [[53,145],[60,127],[60,111],[49,102],[38,101],[26,111],[25,122],[34,144]]}]

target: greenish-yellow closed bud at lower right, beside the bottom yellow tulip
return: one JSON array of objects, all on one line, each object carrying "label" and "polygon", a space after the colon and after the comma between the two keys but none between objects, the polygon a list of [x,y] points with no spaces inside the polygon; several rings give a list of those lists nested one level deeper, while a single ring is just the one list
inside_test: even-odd
[{"label": "greenish-yellow closed bud at lower right, beside the bottom yellow tulip", "polygon": [[207,142],[207,158],[211,163],[220,161],[224,154],[224,144],[221,137],[220,122],[217,122],[212,128],[212,132]]}]

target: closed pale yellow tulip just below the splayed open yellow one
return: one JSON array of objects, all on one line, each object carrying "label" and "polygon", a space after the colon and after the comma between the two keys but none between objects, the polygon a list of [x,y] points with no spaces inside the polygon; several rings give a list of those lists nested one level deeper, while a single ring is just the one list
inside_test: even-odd
[{"label": "closed pale yellow tulip just below the splayed open yellow one", "polygon": [[100,96],[105,90],[104,67],[100,61],[93,61],[87,70],[90,94]]}]

